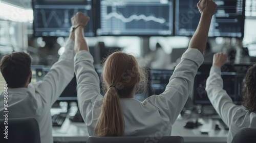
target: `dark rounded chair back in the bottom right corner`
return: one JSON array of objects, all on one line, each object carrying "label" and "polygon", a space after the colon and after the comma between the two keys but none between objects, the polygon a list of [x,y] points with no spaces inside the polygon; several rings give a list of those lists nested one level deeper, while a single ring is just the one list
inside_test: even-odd
[{"label": "dark rounded chair back in the bottom right corner", "polygon": [[234,135],[231,143],[255,143],[256,128],[242,128]]}]

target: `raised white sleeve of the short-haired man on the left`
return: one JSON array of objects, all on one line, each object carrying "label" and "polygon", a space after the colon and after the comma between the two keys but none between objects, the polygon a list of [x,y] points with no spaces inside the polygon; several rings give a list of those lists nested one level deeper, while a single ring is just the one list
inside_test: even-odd
[{"label": "raised white sleeve of the short-haired man on the left", "polygon": [[74,56],[74,41],[69,39],[59,60],[51,67],[44,80],[36,86],[35,92],[39,93],[41,104],[50,104],[47,108],[51,108],[74,77]]}]

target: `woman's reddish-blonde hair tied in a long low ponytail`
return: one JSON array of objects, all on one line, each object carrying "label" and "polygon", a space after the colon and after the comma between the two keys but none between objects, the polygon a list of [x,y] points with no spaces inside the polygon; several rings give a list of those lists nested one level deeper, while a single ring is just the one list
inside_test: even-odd
[{"label": "woman's reddish-blonde hair tied in a long low ponytail", "polygon": [[146,77],[132,55],[115,52],[105,60],[102,70],[105,94],[95,126],[97,136],[123,136],[124,120],[119,98],[131,97],[135,90],[141,89],[139,85],[145,90]]}]

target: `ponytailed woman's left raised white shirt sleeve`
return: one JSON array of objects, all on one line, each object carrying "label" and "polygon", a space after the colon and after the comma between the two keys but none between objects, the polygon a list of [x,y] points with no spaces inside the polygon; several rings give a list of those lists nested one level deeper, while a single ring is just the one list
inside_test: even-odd
[{"label": "ponytailed woman's left raised white shirt sleeve", "polygon": [[87,121],[87,114],[93,111],[93,104],[103,100],[103,96],[100,94],[99,76],[93,62],[92,55],[86,50],[79,51],[74,59],[78,107],[84,121]]}]

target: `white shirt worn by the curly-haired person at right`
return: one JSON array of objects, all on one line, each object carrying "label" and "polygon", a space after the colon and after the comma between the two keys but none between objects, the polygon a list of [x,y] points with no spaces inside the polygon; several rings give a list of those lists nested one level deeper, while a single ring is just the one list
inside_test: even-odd
[{"label": "white shirt worn by the curly-haired person at right", "polygon": [[227,142],[243,127],[256,128],[256,113],[249,113],[243,106],[235,105],[223,89],[221,69],[212,66],[210,76],[206,81],[206,91],[211,104],[214,106],[224,123],[229,126]]}]

